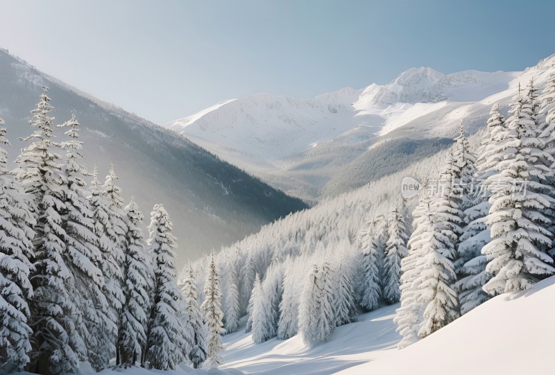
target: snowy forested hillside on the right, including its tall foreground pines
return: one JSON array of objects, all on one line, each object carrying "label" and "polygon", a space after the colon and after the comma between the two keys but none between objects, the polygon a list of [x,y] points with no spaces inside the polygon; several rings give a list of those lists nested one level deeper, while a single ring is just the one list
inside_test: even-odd
[{"label": "snowy forested hillside on the right, including its tall foreground pines", "polygon": [[[405,347],[554,274],[555,64],[547,73],[515,87],[508,113],[494,102],[470,139],[461,125],[447,150],[223,248],[228,332],[246,313],[254,342],[314,345],[357,309],[400,301]],[[411,199],[404,177],[421,183]],[[199,283],[205,265],[191,266]]]}]

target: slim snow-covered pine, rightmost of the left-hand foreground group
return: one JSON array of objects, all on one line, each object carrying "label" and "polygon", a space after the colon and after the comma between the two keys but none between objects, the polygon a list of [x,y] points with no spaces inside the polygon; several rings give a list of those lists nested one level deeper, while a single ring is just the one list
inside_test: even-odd
[{"label": "slim snow-covered pine, rightmost of the left-hand foreground group", "polygon": [[208,327],[208,352],[203,368],[212,369],[223,364],[221,358],[221,351],[223,351],[221,334],[225,332],[221,321],[223,313],[221,312],[220,280],[214,261],[214,251],[212,251],[210,256],[210,265],[207,272],[208,275],[204,287],[206,297],[200,306],[200,311],[203,312]]}]

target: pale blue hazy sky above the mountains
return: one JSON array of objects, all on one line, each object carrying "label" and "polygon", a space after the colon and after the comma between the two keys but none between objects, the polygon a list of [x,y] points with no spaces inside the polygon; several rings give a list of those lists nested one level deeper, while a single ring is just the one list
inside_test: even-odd
[{"label": "pale blue hazy sky above the mountains", "polygon": [[0,46],[167,123],[257,92],[309,97],[409,67],[522,70],[555,53],[555,1],[8,1]]}]

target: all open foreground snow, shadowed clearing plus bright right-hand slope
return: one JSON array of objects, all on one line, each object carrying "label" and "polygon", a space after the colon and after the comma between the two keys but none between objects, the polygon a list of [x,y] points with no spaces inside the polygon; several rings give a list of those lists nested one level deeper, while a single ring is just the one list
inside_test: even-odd
[{"label": "all open foreground snow, shadowed clearing plus bright right-hand slope", "polygon": [[299,336],[260,345],[250,334],[224,336],[221,368],[265,375],[552,373],[555,277],[495,297],[402,350],[393,324],[397,306],[360,315],[312,348]]}]

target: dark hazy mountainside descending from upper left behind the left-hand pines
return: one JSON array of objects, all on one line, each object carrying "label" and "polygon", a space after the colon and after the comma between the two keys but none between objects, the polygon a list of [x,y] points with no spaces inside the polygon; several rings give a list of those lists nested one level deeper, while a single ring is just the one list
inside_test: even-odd
[{"label": "dark hazy mountainside descending from upper left behind the left-hand pines", "polygon": [[[92,98],[0,50],[0,117],[12,143],[11,161],[24,146],[18,138],[31,134],[29,111],[43,85],[50,87],[56,123],[76,110],[89,170],[98,166],[103,181],[114,163],[124,198],[135,195],[147,217],[154,204],[165,204],[175,223],[179,266],[306,207],[179,134]],[[62,130],[56,135],[64,137]]]}]

